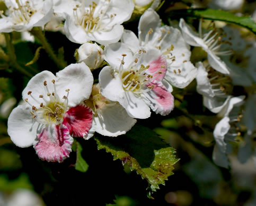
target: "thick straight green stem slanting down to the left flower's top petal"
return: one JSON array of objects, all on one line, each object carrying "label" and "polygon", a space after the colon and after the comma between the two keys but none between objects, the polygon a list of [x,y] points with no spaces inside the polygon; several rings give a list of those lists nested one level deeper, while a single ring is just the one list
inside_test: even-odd
[{"label": "thick straight green stem slanting down to the left flower's top petal", "polygon": [[43,34],[40,27],[33,27],[30,33],[40,41],[40,43],[43,46],[43,49],[46,50],[49,57],[56,63],[59,69],[64,69],[67,66],[66,62],[61,61],[60,59],[57,58],[56,54],[54,53],[54,50],[52,50],[51,45],[47,42],[46,37]]}]

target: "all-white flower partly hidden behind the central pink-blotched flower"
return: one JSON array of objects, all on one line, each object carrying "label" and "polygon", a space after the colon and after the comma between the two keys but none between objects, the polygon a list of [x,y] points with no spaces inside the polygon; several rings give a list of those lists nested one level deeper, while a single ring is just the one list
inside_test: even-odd
[{"label": "all-white flower partly hidden behind the central pink-blotched flower", "polygon": [[149,8],[139,20],[139,37],[125,30],[121,41],[135,53],[140,46],[154,46],[167,61],[165,79],[171,85],[184,88],[195,79],[197,69],[190,62],[190,46],[183,40],[178,29],[161,26],[158,14]]}]

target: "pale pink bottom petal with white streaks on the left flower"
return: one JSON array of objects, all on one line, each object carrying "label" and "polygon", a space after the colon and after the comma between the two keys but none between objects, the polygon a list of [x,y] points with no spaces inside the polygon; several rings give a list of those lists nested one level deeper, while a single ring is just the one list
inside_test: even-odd
[{"label": "pale pink bottom petal with white streaks on the left flower", "polygon": [[73,138],[65,125],[49,125],[37,136],[37,155],[48,162],[63,162],[72,151]]}]

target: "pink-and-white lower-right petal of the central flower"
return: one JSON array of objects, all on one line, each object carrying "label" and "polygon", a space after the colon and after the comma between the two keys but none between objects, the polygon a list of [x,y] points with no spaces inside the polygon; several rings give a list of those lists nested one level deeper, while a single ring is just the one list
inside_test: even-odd
[{"label": "pink-and-white lower-right petal of the central flower", "polygon": [[147,86],[154,88],[144,93],[145,101],[156,114],[168,115],[174,108],[174,97],[171,92],[163,85],[162,82],[153,81]]}]

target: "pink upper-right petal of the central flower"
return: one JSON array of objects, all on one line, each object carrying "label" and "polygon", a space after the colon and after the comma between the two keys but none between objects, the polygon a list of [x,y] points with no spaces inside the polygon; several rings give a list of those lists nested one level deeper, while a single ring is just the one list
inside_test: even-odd
[{"label": "pink upper-right petal of the central flower", "polygon": [[166,59],[163,55],[160,55],[156,60],[149,63],[147,72],[153,75],[155,81],[162,81],[164,79],[167,70]]}]

